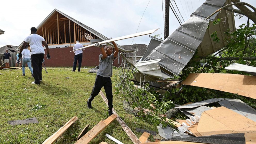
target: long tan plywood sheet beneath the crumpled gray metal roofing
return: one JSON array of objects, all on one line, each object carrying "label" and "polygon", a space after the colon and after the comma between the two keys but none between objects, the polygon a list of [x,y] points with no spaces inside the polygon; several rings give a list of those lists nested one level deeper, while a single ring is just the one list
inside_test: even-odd
[{"label": "long tan plywood sheet beneath the crumpled gray metal roofing", "polygon": [[189,74],[181,84],[225,91],[256,99],[256,76],[237,74]]}]

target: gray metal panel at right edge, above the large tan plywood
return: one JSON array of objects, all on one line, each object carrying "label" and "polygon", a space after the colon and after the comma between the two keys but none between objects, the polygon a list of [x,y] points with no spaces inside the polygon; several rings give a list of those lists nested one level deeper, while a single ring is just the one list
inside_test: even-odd
[{"label": "gray metal panel at right edge, above the large tan plywood", "polygon": [[219,104],[256,122],[256,110],[238,99],[225,99]]}]

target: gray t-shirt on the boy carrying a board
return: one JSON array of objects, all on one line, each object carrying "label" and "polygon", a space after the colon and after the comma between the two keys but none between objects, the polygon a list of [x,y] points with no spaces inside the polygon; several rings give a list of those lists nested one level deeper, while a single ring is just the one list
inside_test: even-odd
[{"label": "gray t-shirt on the boy carrying a board", "polygon": [[103,55],[100,54],[99,55],[99,70],[97,72],[97,75],[103,76],[103,77],[111,77],[112,76],[112,70],[113,70],[113,66],[112,66],[112,62],[114,60],[114,54],[111,54],[109,56],[107,56],[105,59],[101,59]]}]

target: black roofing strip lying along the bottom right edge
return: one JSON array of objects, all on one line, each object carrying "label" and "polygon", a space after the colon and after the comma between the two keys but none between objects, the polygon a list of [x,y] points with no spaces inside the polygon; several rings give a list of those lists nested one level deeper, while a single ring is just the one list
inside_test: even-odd
[{"label": "black roofing strip lying along the bottom right edge", "polygon": [[210,144],[245,144],[244,133],[217,134],[205,137],[169,138],[162,141],[189,141]]}]

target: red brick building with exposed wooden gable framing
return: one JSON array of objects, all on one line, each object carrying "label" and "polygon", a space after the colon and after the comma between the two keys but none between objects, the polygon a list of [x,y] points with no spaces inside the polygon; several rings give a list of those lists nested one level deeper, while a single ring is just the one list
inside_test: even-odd
[{"label": "red brick building with exposed wooden gable framing", "polygon": [[[41,35],[45,39],[50,48],[49,52],[51,59],[46,60],[45,55],[45,64],[47,67],[73,66],[75,54],[70,51],[73,50],[73,46],[76,41],[80,41],[83,46],[86,46],[108,39],[98,31],[69,17],[57,9],[54,9],[37,27],[37,34]],[[17,47],[17,50],[20,49],[21,45],[22,43]],[[106,43],[106,45],[113,46],[112,43]],[[117,46],[119,53],[125,51],[121,46]],[[101,51],[98,47],[86,48],[83,51],[82,66],[99,65],[100,54]],[[121,63],[122,57],[118,54],[118,58],[115,59],[113,65],[119,67]]]}]

